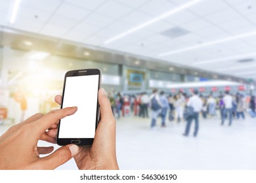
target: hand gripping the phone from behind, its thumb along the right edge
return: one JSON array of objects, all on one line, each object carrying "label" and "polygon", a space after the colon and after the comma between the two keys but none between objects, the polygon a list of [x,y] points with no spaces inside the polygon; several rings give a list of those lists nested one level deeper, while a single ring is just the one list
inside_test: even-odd
[{"label": "hand gripping the phone from behind, its thumb along the right edge", "polygon": [[[62,97],[56,95],[55,101],[60,105]],[[116,159],[116,120],[112,114],[110,101],[105,91],[98,91],[100,105],[100,122],[96,129],[95,140],[91,147],[79,147],[74,156],[79,169],[119,169]],[[48,131],[48,135],[56,137],[57,129]]]}]

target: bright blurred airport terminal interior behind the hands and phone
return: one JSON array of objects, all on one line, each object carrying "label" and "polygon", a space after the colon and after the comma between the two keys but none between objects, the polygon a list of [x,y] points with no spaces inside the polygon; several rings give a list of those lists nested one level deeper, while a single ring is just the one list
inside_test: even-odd
[{"label": "bright blurred airport terminal interior behind the hands and phone", "polygon": [[255,61],[255,0],[0,0],[0,135],[96,68],[120,169],[256,169]]}]

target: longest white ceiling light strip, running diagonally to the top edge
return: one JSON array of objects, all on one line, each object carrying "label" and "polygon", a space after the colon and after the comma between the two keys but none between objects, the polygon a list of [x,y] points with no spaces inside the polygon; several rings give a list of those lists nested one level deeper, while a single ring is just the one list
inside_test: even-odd
[{"label": "longest white ceiling light strip, running diagonally to the top edge", "polygon": [[162,20],[163,18],[170,16],[171,14],[175,14],[181,10],[184,10],[185,8],[188,8],[188,7],[198,3],[199,1],[201,1],[201,0],[190,1],[190,3],[186,3],[186,4],[182,5],[181,7],[170,10],[169,12],[165,12],[164,14],[161,14],[160,16],[153,18],[152,20],[149,20],[148,22],[145,22],[144,24],[140,24],[137,27],[133,27],[132,29],[129,29],[128,31],[125,31],[119,35],[116,35],[115,37],[108,39],[107,41],[104,42],[104,44],[109,44],[110,42],[116,41],[117,39],[121,39],[122,37],[125,37],[126,35],[129,35],[131,33],[134,33],[135,31],[138,31],[139,29],[147,27],[148,25],[154,24],[154,23],[158,22],[159,20]]}]

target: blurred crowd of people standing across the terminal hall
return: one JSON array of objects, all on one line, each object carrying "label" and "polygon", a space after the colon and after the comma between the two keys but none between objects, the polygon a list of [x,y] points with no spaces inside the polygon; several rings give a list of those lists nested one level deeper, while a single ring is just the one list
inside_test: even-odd
[{"label": "blurred crowd of people standing across the terminal hall", "polygon": [[[228,125],[232,125],[233,120],[245,119],[245,116],[256,117],[255,96],[243,93],[226,91],[223,95],[206,96],[195,90],[173,95],[155,89],[152,93],[137,95],[109,92],[108,97],[116,118],[131,115],[151,118],[152,129],[156,127],[158,118],[161,118],[161,127],[165,127],[167,120],[188,122],[188,125],[195,120],[197,125],[200,118],[215,118],[221,121],[221,125],[224,125],[225,120],[228,120]],[[197,130],[195,131],[194,136],[197,135]],[[185,132],[184,135],[188,134]]]}]

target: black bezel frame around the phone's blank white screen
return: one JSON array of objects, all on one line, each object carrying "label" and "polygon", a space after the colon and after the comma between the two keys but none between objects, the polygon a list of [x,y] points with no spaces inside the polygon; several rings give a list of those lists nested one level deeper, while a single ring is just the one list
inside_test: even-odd
[{"label": "black bezel frame around the phone's blank white screen", "polygon": [[[87,75],[98,75],[98,90],[100,89],[100,82],[101,82],[101,72],[99,69],[79,69],[74,71],[68,71],[64,77],[64,86],[62,90],[62,101],[64,100],[65,95],[65,87],[66,87],[66,78],[72,76],[87,76]],[[60,108],[62,108],[62,103]],[[98,97],[97,97],[97,105],[96,105],[96,119],[95,119],[95,131],[98,126],[98,120],[100,116],[100,106],[98,104]],[[65,146],[67,144],[76,144],[77,146],[91,146],[93,144],[94,138],[58,138],[58,134],[60,131],[60,122],[58,123],[58,133],[56,137],[56,143],[60,146]],[[75,143],[78,142],[79,144]]]}]

